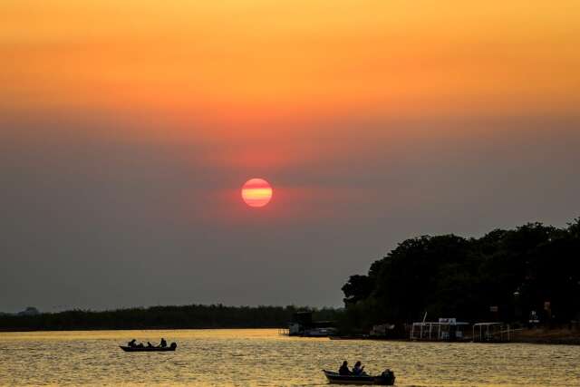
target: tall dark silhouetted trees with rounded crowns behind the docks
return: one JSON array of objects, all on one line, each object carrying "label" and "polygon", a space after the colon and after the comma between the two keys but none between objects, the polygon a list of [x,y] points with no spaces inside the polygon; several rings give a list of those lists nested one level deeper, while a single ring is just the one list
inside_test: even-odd
[{"label": "tall dark silhouetted trees with rounded crowns behind the docks", "polygon": [[[457,317],[543,323],[580,317],[580,218],[530,223],[480,238],[415,237],[343,285],[351,326]],[[549,305],[546,304],[549,302]]]}]

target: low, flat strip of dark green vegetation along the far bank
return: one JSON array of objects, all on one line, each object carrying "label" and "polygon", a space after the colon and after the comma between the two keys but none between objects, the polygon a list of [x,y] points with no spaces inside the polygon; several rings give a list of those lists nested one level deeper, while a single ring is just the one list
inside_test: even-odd
[{"label": "low, flat strip of dark green vegetation along the far bank", "polygon": [[[73,310],[37,315],[3,314],[0,315],[0,330],[275,328],[287,326],[296,311],[298,308],[295,306],[183,305],[104,312]],[[334,320],[339,313],[324,308],[314,310],[314,318]]]}]

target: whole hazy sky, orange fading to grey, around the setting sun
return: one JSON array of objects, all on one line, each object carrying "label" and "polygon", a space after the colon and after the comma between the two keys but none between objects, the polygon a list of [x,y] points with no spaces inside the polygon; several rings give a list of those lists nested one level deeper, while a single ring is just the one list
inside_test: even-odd
[{"label": "whole hazy sky, orange fading to grey, around the setting sun", "polygon": [[341,305],[404,238],[564,226],[578,47],[577,1],[4,0],[0,311]]}]

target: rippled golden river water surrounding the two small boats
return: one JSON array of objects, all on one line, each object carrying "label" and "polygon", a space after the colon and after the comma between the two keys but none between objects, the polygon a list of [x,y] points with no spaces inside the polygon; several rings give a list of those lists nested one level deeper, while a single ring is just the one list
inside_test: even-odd
[{"label": "rippled golden river water surrounding the two small boats", "polygon": [[[175,353],[124,353],[131,338]],[[275,329],[0,334],[0,385],[327,385],[356,360],[399,386],[579,386],[580,346],[408,343],[281,336]]]}]

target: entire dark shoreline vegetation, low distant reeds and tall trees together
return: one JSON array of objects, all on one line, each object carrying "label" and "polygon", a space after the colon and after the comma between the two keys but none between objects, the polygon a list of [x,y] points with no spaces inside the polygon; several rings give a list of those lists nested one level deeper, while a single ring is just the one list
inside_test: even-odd
[{"label": "entire dark shoreline vegetation, low distant reeds and tall trees together", "polygon": [[[95,312],[0,314],[0,331],[282,328],[297,312],[333,322],[338,335],[408,339],[438,318],[509,324],[518,343],[580,344],[580,218],[567,227],[528,223],[483,237],[407,239],[342,287],[344,308],[181,305]],[[34,309],[34,308],[29,308]]]}]

